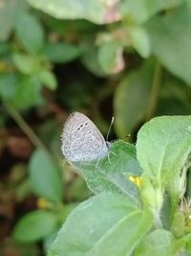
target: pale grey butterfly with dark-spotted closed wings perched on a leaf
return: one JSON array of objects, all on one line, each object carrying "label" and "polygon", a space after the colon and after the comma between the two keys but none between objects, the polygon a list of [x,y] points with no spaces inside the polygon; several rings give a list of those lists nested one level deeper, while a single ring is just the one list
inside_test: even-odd
[{"label": "pale grey butterfly with dark-spotted closed wings perched on a leaf", "polygon": [[67,119],[61,150],[69,162],[99,160],[108,154],[110,145],[86,115],[74,112]]}]

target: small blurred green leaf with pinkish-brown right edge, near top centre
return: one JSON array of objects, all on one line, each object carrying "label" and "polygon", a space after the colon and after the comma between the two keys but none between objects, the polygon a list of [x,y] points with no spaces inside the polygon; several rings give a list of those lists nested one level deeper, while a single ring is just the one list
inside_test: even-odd
[{"label": "small blurred green leaf with pinkish-brown right edge, near top centre", "polygon": [[120,42],[110,41],[98,49],[98,62],[106,74],[116,74],[123,70],[123,48]]}]

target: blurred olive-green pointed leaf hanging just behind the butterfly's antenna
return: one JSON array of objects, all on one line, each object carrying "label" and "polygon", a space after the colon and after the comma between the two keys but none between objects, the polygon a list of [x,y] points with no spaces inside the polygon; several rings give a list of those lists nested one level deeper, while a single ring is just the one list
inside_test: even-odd
[{"label": "blurred olive-green pointed leaf hanging just behind the butterfly's antenna", "polygon": [[150,96],[153,63],[145,63],[139,70],[128,72],[115,93],[115,128],[119,137],[131,133],[142,121]]}]

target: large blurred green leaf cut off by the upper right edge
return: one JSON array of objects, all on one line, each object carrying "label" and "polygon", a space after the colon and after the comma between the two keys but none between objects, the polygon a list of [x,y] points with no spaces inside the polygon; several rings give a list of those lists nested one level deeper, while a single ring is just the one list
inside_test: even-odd
[{"label": "large blurred green leaf cut off by the upper right edge", "polygon": [[[152,51],[175,76],[191,84],[191,5],[147,23]],[[178,36],[179,35],[179,36]]]}]

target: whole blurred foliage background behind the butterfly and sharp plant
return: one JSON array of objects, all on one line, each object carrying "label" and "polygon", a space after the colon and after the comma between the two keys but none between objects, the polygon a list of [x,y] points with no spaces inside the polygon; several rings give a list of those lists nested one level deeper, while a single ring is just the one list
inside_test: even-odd
[{"label": "whole blurred foliage background behind the butterfly and sharp plant", "polygon": [[71,112],[135,143],[190,114],[190,84],[190,0],[0,1],[0,255],[45,255],[91,196],[60,151]]}]

